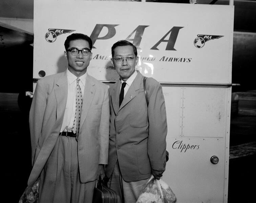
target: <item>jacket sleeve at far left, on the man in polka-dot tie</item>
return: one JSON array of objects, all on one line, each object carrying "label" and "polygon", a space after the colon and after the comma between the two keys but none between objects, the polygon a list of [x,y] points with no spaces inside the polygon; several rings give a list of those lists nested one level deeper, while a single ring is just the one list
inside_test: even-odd
[{"label": "jacket sleeve at far left, on the man in polka-dot tie", "polygon": [[46,89],[39,80],[34,92],[32,104],[29,112],[29,129],[30,129],[30,139],[31,139],[31,155],[32,155],[32,165],[34,164],[35,151],[38,143],[39,136],[41,134],[43,117],[46,108]]}]

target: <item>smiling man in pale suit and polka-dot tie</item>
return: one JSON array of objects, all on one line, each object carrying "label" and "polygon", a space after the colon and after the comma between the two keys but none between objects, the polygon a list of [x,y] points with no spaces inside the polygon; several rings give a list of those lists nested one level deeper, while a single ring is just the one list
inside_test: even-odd
[{"label": "smiling man in pale suit and polka-dot tie", "polygon": [[67,70],[40,79],[33,97],[28,185],[40,177],[39,203],[90,203],[108,162],[108,88],[86,72],[88,36],[73,33],[64,45]]}]

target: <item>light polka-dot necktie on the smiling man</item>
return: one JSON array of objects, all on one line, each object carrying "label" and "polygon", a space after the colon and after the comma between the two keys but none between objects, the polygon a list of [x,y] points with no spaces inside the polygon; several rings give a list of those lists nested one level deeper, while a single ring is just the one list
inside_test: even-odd
[{"label": "light polka-dot necktie on the smiling man", "polygon": [[83,104],[83,94],[79,85],[80,79],[77,78],[77,87],[76,87],[76,114],[74,118],[74,124],[72,127],[73,133],[77,133],[77,137],[79,134],[79,126],[80,126],[80,117],[82,112],[82,104]]}]

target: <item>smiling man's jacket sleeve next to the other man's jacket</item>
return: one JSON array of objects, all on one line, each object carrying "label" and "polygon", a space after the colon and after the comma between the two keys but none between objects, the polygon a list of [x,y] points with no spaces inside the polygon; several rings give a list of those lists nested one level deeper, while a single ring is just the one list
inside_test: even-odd
[{"label": "smiling man's jacket sleeve next to the other man's jacket", "polygon": [[100,144],[99,164],[108,164],[108,143],[109,143],[109,96],[106,87],[104,100],[101,109],[101,121],[98,140]]}]

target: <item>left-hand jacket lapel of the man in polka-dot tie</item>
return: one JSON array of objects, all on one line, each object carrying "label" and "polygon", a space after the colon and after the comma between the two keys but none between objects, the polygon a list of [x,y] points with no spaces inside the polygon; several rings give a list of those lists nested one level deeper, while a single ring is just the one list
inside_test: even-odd
[{"label": "left-hand jacket lapel of the man in polka-dot tie", "polygon": [[[67,83],[67,72],[63,72],[62,76],[56,82],[55,85],[55,96],[57,100],[57,120],[64,116],[66,104],[67,104],[67,93],[68,93],[68,83]],[[63,120],[60,119],[62,122]]]}]

